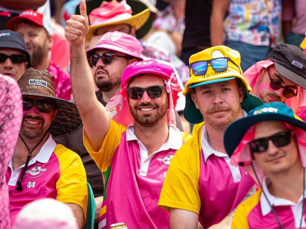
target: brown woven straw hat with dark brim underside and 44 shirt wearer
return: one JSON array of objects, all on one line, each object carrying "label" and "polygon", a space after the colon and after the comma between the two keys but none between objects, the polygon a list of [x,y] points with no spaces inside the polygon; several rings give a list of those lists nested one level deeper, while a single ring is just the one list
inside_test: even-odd
[{"label": "brown woven straw hat with dark brim underside and 44 shirt wearer", "polygon": [[22,95],[49,98],[56,104],[58,116],[49,130],[53,138],[74,133],[83,125],[76,105],[55,96],[54,83],[47,70],[29,68],[17,83]]}]

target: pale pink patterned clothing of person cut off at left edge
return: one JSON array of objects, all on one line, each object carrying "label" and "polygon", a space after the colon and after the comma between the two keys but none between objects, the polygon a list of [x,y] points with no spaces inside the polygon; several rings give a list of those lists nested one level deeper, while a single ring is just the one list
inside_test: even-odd
[{"label": "pale pink patterned clothing of person cut off at left edge", "polygon": [[9,195],[5,174],[20,131],[22,97],[17,82],[2,74],[0,92],[0,228],[9,229]]}]

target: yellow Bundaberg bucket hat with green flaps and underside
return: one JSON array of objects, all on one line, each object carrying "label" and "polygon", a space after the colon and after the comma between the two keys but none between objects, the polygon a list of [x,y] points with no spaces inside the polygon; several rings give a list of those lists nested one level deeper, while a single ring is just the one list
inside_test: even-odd
[{"label": "yellow Bundaberg bucket hat with green flaps and underside", "polygon": [[[226,70],[215,71],[211,66],[211,64],[208,63],[210,62],[209,60],[216,58],[227,59]],[[202,75],[199,74],[194,75],[192,71],[192,65],[203,60],[208,60],[206,72],[203,71]],[[236,50],[233,50],[224,45],[219,45],[205,49],[199,53],[190,56],[189,68],[190,68],[190,79],[187,81],[185,89],[183,91],[183,95],[186,96],[184,117],[188,122],[194,124],[203,122],[203,116],[200,113],[200,110],[196,108],[195,104],[191,99],[191,94],[195,92],[194,88],[201,85],[217,83],[237,78],[239,79],[238,82],[242,86],[245,92],[244,100],[241,102],[242,109],[248,112],[254,109],[255,107],[263,104],[261,100],[250,94],[252,88],[250,87],[250,85],[242,75],[242,69],[240,67],[240,53]]]}]

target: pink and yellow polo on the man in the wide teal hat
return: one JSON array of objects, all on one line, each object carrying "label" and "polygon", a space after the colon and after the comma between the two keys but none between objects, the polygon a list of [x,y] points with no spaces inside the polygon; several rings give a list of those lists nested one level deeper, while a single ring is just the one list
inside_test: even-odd
[{"label": "pink and yellow polo on the man in the wide teal hat", "polygon": [[[299,198],[297,204],[284,198],[273,196],[268,187],[267,176],[263,180],[263,191],[272,205],[278,220],[283,228],[300,228],[302,216],[303,195]],[[306,196],[306,195],[305,195]],[[306,206],[304,206],[304,215],[301,228],[305,229]],[[259,189],[253,196],[242,202],[233,217],[233,229],[278,229],[278,222],[272,213],[271,207],[267,202],[263,192]]]}]

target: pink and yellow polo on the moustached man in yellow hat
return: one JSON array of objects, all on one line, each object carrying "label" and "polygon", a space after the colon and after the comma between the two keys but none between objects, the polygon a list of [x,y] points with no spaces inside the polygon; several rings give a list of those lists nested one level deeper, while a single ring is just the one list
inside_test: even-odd
[{"label": "pink and yellow polo on the moustached man in yellow hat", "polygon": [[235,209],[254,184],[227,154],[211,148],[204,124],[174,155],[158,206],[195,212],[208,228]]}]

